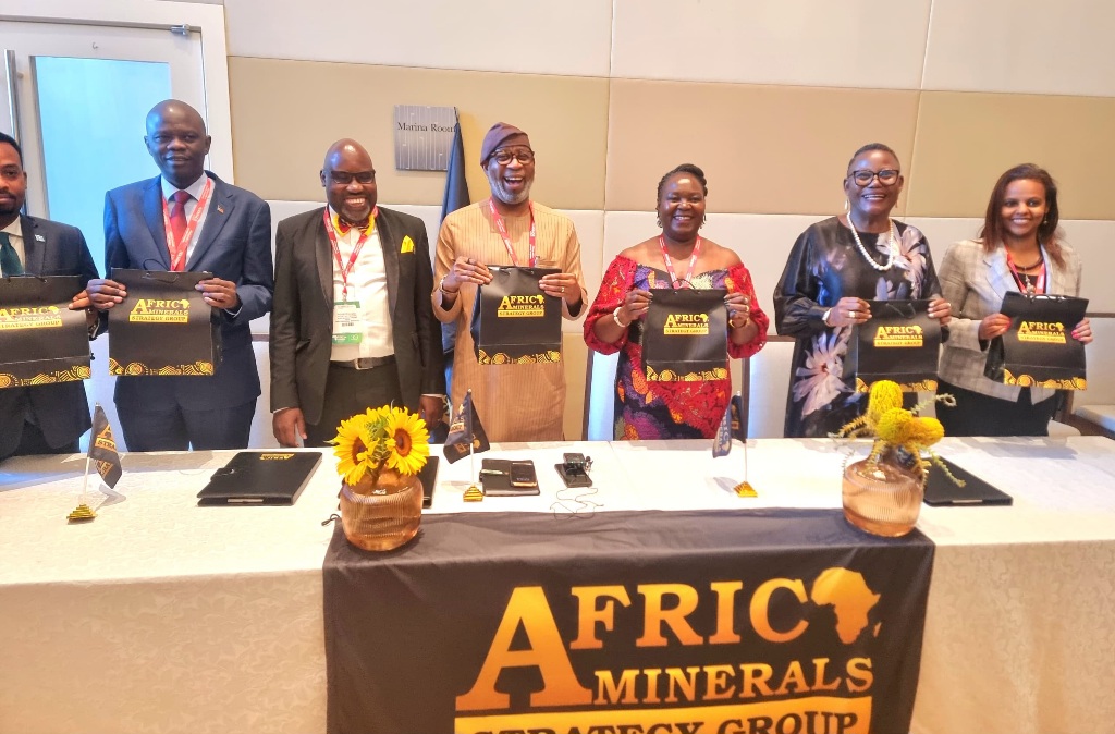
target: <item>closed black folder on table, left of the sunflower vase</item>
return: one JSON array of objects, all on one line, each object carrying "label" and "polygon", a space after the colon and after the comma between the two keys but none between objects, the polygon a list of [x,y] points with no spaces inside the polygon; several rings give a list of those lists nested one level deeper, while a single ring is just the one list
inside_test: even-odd
[{"label": "closed black folder on table, left of the sunflower vase", "polygon": [[320,463],[317,451],[242,451],[213,472],[197,504],[294,504]]}]

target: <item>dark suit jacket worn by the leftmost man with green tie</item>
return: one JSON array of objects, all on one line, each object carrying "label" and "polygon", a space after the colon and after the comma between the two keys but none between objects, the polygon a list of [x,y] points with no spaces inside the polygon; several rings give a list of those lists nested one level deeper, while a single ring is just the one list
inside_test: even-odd
[{"label": "dark suit jacket worn by the leftmost man with green tie", "polygon": [[[28,274],[81,276],[83,288],[98,277],[85,236],[76,226],[35,216],[20,216],[20,225]],[[28,405],[52,446],[72,442],[93,425],[83,383],[0,389],[0,457],[19,445]]]}]

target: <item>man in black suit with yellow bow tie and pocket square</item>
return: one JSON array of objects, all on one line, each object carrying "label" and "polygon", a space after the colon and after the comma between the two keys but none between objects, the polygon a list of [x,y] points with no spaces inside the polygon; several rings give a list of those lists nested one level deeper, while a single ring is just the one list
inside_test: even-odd
[{"label": "man in black suit with yellow bow tie and pocket square", "polygon": [[275,234],[275,438],[323,446],[342,419],[391,403],[434,425],[445,373],[426,225],[376,206],[376,170],[356,141],[333,143],[320,175],[329,205]]}]

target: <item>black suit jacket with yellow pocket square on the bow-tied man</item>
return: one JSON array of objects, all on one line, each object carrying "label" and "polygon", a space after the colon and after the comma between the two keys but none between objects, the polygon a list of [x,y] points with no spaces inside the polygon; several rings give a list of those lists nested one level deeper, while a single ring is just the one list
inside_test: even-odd
[{"label": "black suit jacket with yellow pocket square on the bow-tied man", "polygon": [[[323,211],[279,222],[271,315],[271,409],[301,408],[313,425],[321,418],[333,330],[333,254]],[[434,270],[426,225],[380,207],[376,229],[387,268],[399,390],[406,406],[417,411],[421,395],[445,393],[442,329],[429,300]],[[406,236],[414,250],[400,252]]]}]

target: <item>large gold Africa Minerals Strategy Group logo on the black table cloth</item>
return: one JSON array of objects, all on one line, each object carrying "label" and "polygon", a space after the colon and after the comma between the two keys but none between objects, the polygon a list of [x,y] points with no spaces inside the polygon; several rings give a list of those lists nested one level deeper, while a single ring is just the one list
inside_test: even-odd
[{"label": "large gold Africa Minerals Strategy Group logo on the black table cloth", "polygon": [[[471,689],[456,698],[455,728],[867,734],[880,599],[846,568],[826,568],[808,587],[799,578],[750,589],[739,580],[572,587],[562,602],[540,586],[515,587]],[[562,636],[559,619],[575,622],[575,637]],[[535,683],[513,702],[501,675],[523,669]]]}]

